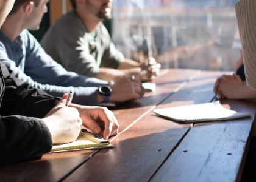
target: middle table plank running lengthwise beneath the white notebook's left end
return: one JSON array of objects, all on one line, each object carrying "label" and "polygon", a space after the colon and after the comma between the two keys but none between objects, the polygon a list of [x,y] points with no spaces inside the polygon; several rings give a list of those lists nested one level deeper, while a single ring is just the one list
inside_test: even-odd
[{"label": "middle table plank running lengthwise beneath the white notebook's left end", "polygon": [[[165,106],[179,105],[179,102],[172,104],[177,99],[176,95],[182,96],[183,104],[210,101],[214,95],[212,82],[220,74],[199,72],[163,103]],[[202,91],[200,97],[194,89]],[[154,108],[112,140],[115,149],[96,153],[65,181],[79,181],[81,178],[84,181],[148,181],[190,129],[188,125],[155,116]]]}]

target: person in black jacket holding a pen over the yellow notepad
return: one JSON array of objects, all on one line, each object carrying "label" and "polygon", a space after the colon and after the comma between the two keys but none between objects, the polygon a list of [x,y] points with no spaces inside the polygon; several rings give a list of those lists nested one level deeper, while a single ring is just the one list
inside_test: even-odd
[{"label": "person in black jacket holding a pen over the yellow notepad", "polygon": [[[0,0],[0,27],[14,2]],[[105,139],[118,133],[116,118],[107,108],[66,107],[67,96],[54,98],[31,87],[0,62],[1,165],[40,157],[52,144],[76,140],[82,124]]]}]

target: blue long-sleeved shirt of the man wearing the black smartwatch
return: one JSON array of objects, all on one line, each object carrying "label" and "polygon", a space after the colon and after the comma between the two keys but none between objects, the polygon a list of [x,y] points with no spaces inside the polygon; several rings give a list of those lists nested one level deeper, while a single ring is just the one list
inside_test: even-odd
[{"label": "blue long-sleeved shirt of the man wearing the black smartwatch", "polygon": [[107,84],[68,72],[46,54],[29,31],[24,30],[15,41],[10,41],[0,30],[0,61],[22,81],[53,96],[63,96],[73,90],[73,103],[97,104],[97,87]]}]

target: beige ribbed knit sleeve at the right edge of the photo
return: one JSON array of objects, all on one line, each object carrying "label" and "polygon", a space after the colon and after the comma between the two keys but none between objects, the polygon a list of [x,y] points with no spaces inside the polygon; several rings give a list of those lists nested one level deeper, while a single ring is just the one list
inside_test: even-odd
[{"label": "beige ribbed knit sleeve at the right edge of the photo", "polygon": [[246,82],[256,90],[256,1],[240,0],[235,5]]}]

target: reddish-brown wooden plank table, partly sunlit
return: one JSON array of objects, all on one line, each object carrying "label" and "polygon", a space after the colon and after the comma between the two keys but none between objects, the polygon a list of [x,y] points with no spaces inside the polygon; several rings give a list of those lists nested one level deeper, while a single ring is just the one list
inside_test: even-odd
[{"label": "reddish-brown wooden plank table, partly sunlit", "polygon": [[170,69],[155,93],[113,110],[120,124],[114,149],[52,153],[0,167],[0,181],[239,181],[252,136],[255,106],[226,100],[252,118],[180,124],[154,109],[207,103],[223,72]]}]

